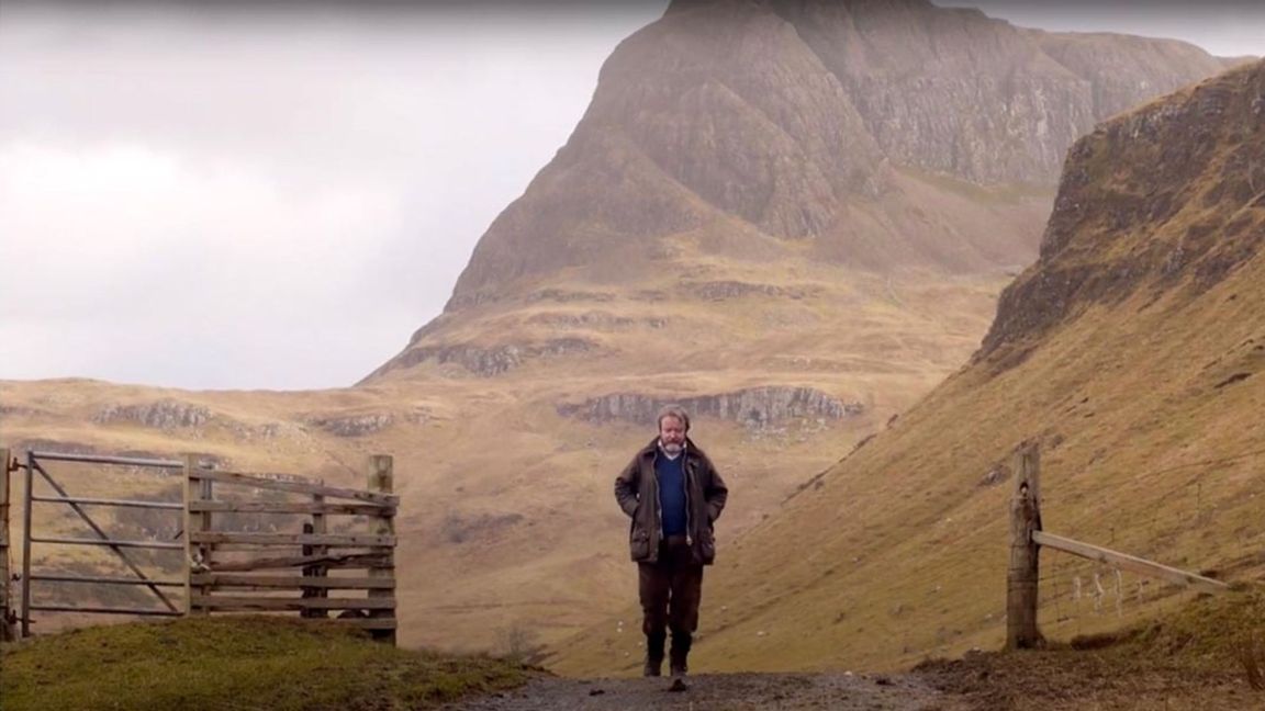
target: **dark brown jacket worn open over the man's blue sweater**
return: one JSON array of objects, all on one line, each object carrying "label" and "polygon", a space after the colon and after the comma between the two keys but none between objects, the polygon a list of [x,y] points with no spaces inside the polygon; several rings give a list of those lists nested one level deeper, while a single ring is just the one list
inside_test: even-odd
[{"label": "dark brown jacket worn open over the man's blue sweater", "polygon": [[[659,560],[663,517],[659,512],[659,479],[654,474],[654,459],[659,454],[659,438],[654,438],[615,478],[615,500],[632,519],[629,529],[629,552],[635,563]],[[707,454],[694,447],[688,438],[684,472],[687,541],[694,554],[694,562],[710,566],[716,559],[712,524],[725,509],[729,488]]]}]

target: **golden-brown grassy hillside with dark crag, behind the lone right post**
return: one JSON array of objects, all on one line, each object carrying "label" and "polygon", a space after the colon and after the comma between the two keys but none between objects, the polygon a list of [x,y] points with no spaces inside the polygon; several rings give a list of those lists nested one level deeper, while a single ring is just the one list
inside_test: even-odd
[{"label": "golden-brown grassy hillside with dark crag, behind the lone right post", "polygon": [[[1262,250],[1265,62],[1077,142],[1041,257],[1006,290],[972,363],[722,543],[698,667],[897,667],[997,646],[1009,464],[1025,440],[1042,448],[1046,529],[1265,579]],[[1058,555],[1042,554],[1046,631],[1121,624],[1064,625],[1051,598],[1069,614],[1071,581],[1049,567]],[[1121,610],[1145,612],[1133,600]],[[606,625],[555,664],[622,667],[629,649]]]}]

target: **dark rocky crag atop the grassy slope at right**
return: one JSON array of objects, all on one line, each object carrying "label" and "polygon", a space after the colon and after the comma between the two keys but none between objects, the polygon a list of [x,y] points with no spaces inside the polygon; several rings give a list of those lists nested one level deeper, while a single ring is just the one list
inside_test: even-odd
[{"label": "dark rocky crag atop the grassy slope at right", "polygon": [[1265,63],[1159,100],[1071,148],[1041,256],[979,358],[1021,354],[1095,304],[1197,296],[1265,245]]}]

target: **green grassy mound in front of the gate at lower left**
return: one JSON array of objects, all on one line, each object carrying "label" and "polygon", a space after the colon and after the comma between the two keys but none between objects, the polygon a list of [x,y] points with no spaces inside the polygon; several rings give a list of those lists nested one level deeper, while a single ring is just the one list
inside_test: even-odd
[{"label": "green grassy mound in front of the gate at lower left", "polygon": [[0,655],[5,711],[426,708],[540,672],[395,649],[335,622],[187,617],[85,628]]}]

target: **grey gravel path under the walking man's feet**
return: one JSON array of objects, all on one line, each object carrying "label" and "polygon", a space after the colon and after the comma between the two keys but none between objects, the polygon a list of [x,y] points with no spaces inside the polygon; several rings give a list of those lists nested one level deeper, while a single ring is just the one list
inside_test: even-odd
[{"label": "grey gravel path under the walking man's feet", "polygon": [[917,676],[888,674],[700,674],[689,689],[669,692],[672,679],[543,678],[445,708],[474,711],[682,711],[831,708],[839,711],[931,711],[945,697]]}]

